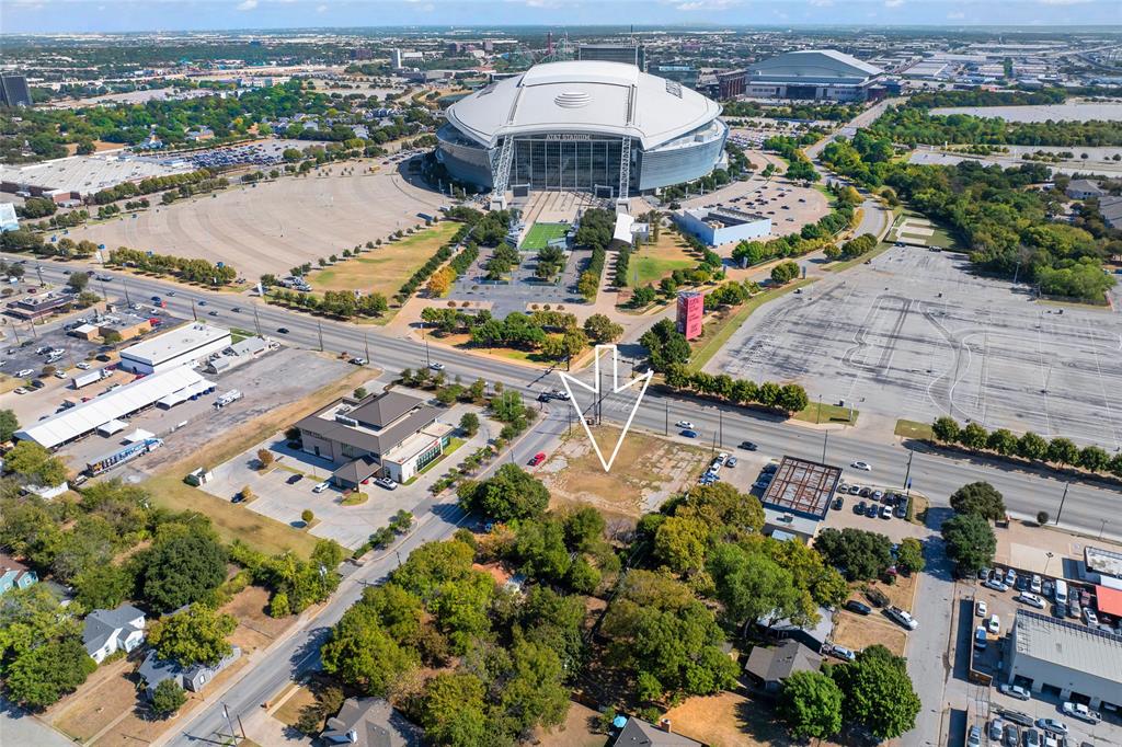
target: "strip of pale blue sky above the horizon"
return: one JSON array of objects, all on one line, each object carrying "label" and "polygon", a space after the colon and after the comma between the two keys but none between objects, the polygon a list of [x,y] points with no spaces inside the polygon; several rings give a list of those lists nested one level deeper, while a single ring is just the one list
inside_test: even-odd
[{"label": "strip of pale blue sky above the horizon", "polygon": [[1122,0],[0,0],[0,30],[401,25],[1103,26]]}]

